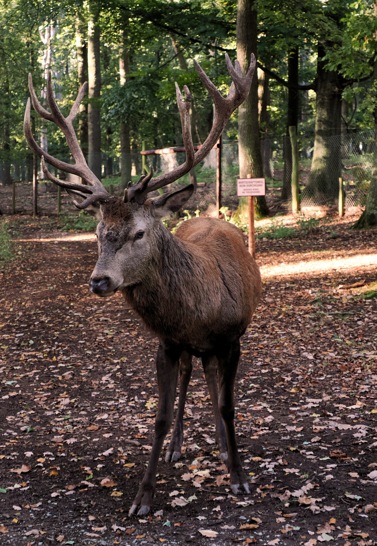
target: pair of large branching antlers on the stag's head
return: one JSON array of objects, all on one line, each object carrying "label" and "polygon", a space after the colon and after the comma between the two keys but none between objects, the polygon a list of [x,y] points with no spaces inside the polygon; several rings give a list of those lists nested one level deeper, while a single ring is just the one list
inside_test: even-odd
[{"label": "pair of large branching antlers on the stag's head", "polygon": [[[210,93],[213,103],[216,109],[216,115],[213,122],[212,129],[210,134],[207,136],[205,142],[200,146],[198,151],[194,151],[194,145],[191,134],[191,122],[190,122],[190,107],[192,102],[192,94],[190,93],[187,86],[184,86],[185,100],[183,100],[181,91],[179,90],[178,84],[176,83],[176,93],[177,93],[177,104],[179,109],[179,115],[181,116],[182,123],[182,134],[183,134],[183,143],[186,150],[186,160],[182,165],[179,165],[176,169],[173,169],[169,173],[155,177],[152,182],[153,171],[147,176],[141,176],[140,180],[136,183],[135,186],[131,186],[124,191],[124,200],[130,201],[134,200],[137,203],[143,203],[146,199],[146,195],[149,192],[153,192],[156,189],[159,189],[171,182],[175,182],[181,176],[187,174],[195,165],[200,163],[202,159],[212,150],[213,146],[216,144],[219,136],[222,134],[226,123],[228,122],[231,114],[243,103],[243,101],[248,96],[250,91],[250,85],[252,83],[253,74],[255,70],[255,57],[252,55],[250,66],[248,72],[244,78],[242,77],[240,63],[235,62],[235,66],[232,65],[228,54],[225,55],[226,65],[228,67],[228,72],[232,79],[232,85],[227,97],[218,91],[204,72],[199,64],[194,61],[194,66],[196,72],[198,72],[199,78],[202,81],[202,84],[206,87],[207,91]],[[83,200],[82,203],[77,203],[74,201],[75,205],[79,209],[85,209],[88,205],[93,203],[105,203],[111,199],[111,195],[106,191],[104,186],[98,180],[97,176],[92,173],[89,169],[85,157],[80,149],[79,142],[77,141],[77,136],[73,128],[73,121],[79,110],[79,105],[85,94],[86,83],[81,87],[79,94],[75,100],[74,105],[71,108],[70,114],[68,117],[64,117],[62,112],[59,110],[56,100],[53,96],[52,84],[51,84],[51,72],[47,77],[47,102],[49,103],[51,112],[48,112],[41,106],[38,101],[37,94],[35,94],[33,87],[33,80],[31,74],[29,74],[29,91],[32,97],[32,103],[34,110],[45,120],[53,121],[57,126],[62,130],[69,149],[75,160],[75,164],[71,165],[70,163],[65,163],[56,159],[53,156],[50,156],[49,153],[44,152],[41,147],[34,140],[32,130],[31,130],[31,121],[30,121],[30,99],[27,101],[25,118],[23,120],[23,131],[25,133],[25,138],[28,145],[34,151],[37,156],[42,158],[41,166],[46,177],[57,184],[66,188],[70,193],[79,195]],[[89,186],[85,186],[79,183],[66,182],[59,180],[56,176],[53,176],[47,170],[45,161],[60,169],[66,173],[75,174],[80,176],[85,180]],[[151,182],[151,183],[149,183]],[[89,196],[87,197],[87,195]]]}]

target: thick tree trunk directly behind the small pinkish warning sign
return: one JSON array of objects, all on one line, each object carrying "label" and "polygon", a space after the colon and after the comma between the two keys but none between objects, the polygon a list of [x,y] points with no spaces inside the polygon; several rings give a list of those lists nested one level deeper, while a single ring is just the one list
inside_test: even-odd
[{"label": "thick tree trunk directly behind the small pinkish warning sign", "polygon": [[[252,53],[257,57],[258,29],[255,0],[238,0],[237,8],[237,58],[241,70],[246,73]],[[238,154],[240,157],[240,176],[248,174],[255,177],[263,176],[262,155],[260,147],[259,116],[258,116],[258,76],[255,72],[250,93],[238,108]],[[248,211],[247,198],[240,198],[238,215]],[[267,216],[268,207],[265,197],[258,197],[255,203],[256,214]]]}]

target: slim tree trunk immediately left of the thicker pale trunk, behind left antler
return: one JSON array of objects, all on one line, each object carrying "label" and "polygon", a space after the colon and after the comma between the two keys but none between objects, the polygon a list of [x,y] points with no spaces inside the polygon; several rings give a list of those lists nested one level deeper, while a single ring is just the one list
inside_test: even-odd
[{"label": "slim tree trunk immediately left of the thicker pale trunk, behind left antler", "polygon": [[[76,16],[76,54],[77,54],[77,75],[79,76],[79,88],[88,81],[88,51],[84,39],[84,23],[80,19],[79,12]],[[87,98],[86,92],[86,98]],[[79,143],[83,155],[88,157],[88,104],[84,100],[79,106]]]}]

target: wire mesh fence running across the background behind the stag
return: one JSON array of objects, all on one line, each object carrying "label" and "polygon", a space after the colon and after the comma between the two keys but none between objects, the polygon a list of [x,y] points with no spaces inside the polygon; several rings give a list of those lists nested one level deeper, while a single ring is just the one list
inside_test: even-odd
[{"label": "wire mesh fence running across the background behind the stag", "polygon": [[[314,135],[300,135],[300,170],[299,182],[301,189],[301,207],[336,205],[339,192],[339,177],[343,178],[345,191],[345,208],[363,206],[366,203],[368,188],[372,178],[374,156],[374,132],[366,130],[348,135],[332,136],[323,139],[321,145],[326,150],[324,167],[318,176],[313,172]],[[141,174],[140,153],[131,154],[133,175]],[[184,152],[159,153],[148,156],[147,163],[153,167],[155,173],[166,173],[185,160]],[[267,192],[280,196],[282,201],[291,199],[291,155],[290,143],[286,136],[265,135],[262,140],[262,160],[267,182]],[[218,149],[214,148],[208,156],[195,167],[197,192],[193,196],[191,208],[193,210],[212,212],[216,210],[216,171]],[[225,141],[222,147],[222,205],[235,209],[238,205],[236,180],[239,176],[238,142]],[[119,176],[119,157],[103,154],[102,169],[104,177]],[[57,175],[55,169],[51,168]],[[318,174],[318,173],[317,173]],[[33,176],[33,159],[17,159],[17,161],[0,162],[0,210],[9,213],[11,205],[10,189],[12,181],[17,182],[16,193],[21,194],[21,187],[25,193],[25,184],[31,182]],[[73,175],[65,175],[70,181]],[[115,191],[117,181],[115,178]],[[182,185],[189,180],[188,175],[175,182]],[[46,197],[56,191],[51,183],[43,182],[39,185],[41,195]],[[31,194],[30,185],[25,195]],[[9,195],[8,195],[9,194]],[[24,200],[24,203],[26,201]],[[44,199],[41,199],[43,205]],[[17,206],[21,212],[28,210],[29,205]]]}]

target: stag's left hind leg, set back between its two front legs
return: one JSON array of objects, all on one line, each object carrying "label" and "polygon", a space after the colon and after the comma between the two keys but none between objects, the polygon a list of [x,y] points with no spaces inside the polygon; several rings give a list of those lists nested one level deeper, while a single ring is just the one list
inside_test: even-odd
[{"label": "stag's left hind leg, set back between its two front legs", "polygon": [[193,371],[193,357],[187,351],[183,351],[179,362],[179,399],[177,415],[171,440],[165,455],[165,462],[174,462],[181,457],[183,443],[183,414],[186,402],[187,389]]}]

